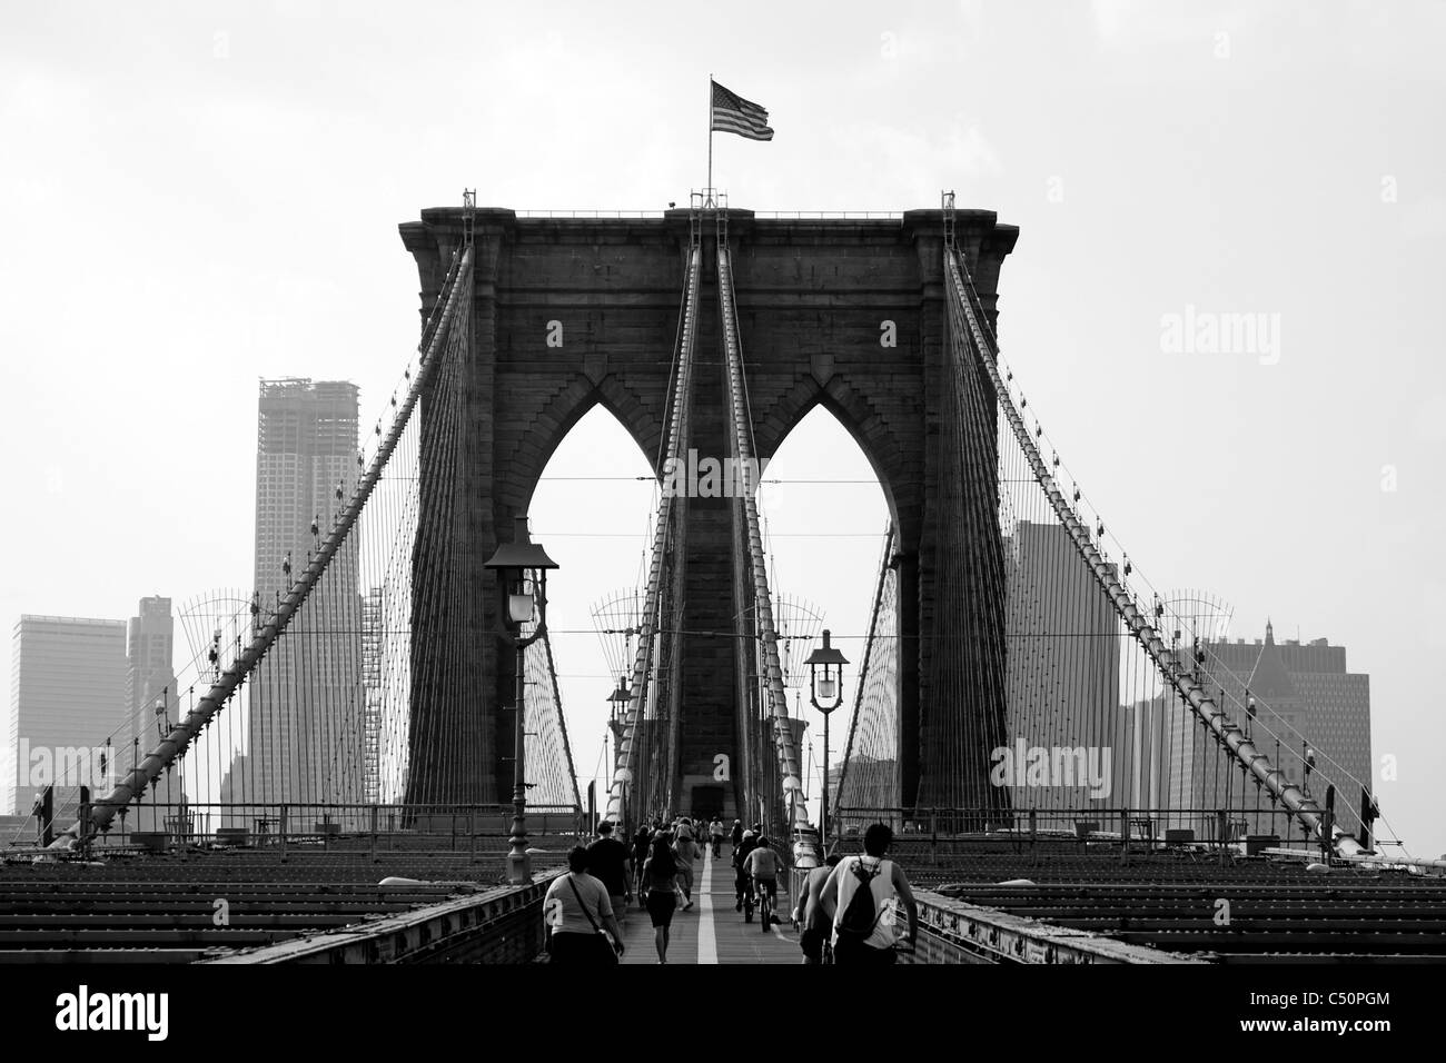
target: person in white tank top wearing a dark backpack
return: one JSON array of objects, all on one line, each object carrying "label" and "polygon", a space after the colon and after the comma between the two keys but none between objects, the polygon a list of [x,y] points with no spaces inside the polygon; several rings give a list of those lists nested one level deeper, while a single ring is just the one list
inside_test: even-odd
[{"label": "person in white tank top wearing a dark backpack", "polygon": [[904,869],[885,859],[894,832],[875,823],[863,832],[863,856],[844,856],[829,872],[820,900],[833,907],[833,962],[894,963],[898,907],[908,911],[905,940],[918,940],[918,905]]}]

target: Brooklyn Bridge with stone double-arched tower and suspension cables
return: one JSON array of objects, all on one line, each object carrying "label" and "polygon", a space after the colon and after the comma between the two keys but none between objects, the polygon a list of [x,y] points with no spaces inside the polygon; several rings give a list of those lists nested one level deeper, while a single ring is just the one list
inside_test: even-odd
[{"label": "Brooklyn Bridge with stone double-arched tower and suspension cables", "polygon": [[[6,839],[0,960],[535,962],[568,849],[678,814],[777,839],[779,911],[891,826],[921,923],[904,962],[1446,959],[1446,866],[1394,852],[1369,778],[1270,684],[1271,639],[1254,674],[1228,661],[1035,417],[1048,351],[996,341],[1018,236],[951,192],[816,217],[467,194],[403,223],[421,338],[386,417],[273,586],[215,615],[146,746],[97,735],[106,781],[75,767]],[[612,754],[584,797],[547,625],[568,573],[528,511],[596,406],[683,486],[610,613]],[[801,633],[759,512],[818,406],[888,505],[852,661]],[[842,709],[818,785],[790,690]],[[722,858],[698,897],[675,959],[798,960],[787,920],[737,914]]]}]

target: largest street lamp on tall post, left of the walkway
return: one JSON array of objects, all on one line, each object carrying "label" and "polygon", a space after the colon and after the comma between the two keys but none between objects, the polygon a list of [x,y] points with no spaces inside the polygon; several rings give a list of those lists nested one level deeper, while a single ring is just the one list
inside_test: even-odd
[{"label": "largest street lamp on tall post, left of the walkway", "polygon": [[[518,651],[516,673],[516,732],[512,752],[512,837],[508,852],[508,881],[522,885],[532,881],[532,868],[528,861],[528,830],[526,804],[528,784],[525,774],[526,754],[526,717],[523,713],[526,699],[526,648],[547,633],[547,573],[558,564],[541,545],[528,537],[528,518],[516,518],[516,531],[512,542],[497,547],[497,552],[483,565],[497,573],[497,584],[502,590],[502,619],[497,625],[503,639]],[[522,636],[522,625],[536,616],[536,631]]]}]

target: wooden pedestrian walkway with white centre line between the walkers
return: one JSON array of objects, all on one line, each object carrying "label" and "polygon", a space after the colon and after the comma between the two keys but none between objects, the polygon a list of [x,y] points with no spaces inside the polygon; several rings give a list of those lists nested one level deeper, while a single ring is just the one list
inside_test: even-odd
[{"label": "wooden pedestrian walkway with white centre line between the walkers", "polygon": [[[724,843],[723,856],[714,861],[711,852],[704,850],[701,863],[693,865],[693,907],[688,911],[680,908],[672,915],[668,963],[800,963],[798,934],[788,923],[792,900],[787,876],[778,882],[777,914],[784,924],[765,934],[756,915],[752,923],[745,923],[743,913],[733,910],[729,852]],[[636,898],[628,911],[623,942],[628,944],[623,963],[658,962],[652,921],[638,907]]]}]

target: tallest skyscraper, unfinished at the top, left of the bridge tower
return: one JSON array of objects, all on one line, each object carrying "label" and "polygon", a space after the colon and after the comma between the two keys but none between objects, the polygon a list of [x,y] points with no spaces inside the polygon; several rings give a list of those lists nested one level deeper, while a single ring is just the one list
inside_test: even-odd
[{"label": "tallest skyscraper, unfinished at the top, left of the bridge tower", "polygon": [[[254,586],[263,615],[305,568],[350,498],[356,456],[356,385],[262,380]],[[366,706],[357,535],[348,538],[286,638],[257,668],[247,727],[249,801],[363,800]]]}]

